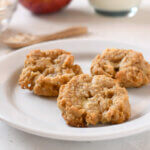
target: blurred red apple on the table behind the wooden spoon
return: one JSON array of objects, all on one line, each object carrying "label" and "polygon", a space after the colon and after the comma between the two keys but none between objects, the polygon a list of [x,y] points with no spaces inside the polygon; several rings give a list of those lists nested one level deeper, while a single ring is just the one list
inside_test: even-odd
[{"label": "blurred red apple on the table behind the wooden spoon", "polygon": [[20,3],[36,14],[57,12],[71,0],[19,0]]}]

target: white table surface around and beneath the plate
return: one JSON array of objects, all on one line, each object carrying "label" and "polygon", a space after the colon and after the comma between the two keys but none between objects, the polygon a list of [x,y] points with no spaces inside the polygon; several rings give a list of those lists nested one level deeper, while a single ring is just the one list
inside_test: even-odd
[{"label": "white table surface around and beneath the plate", "polygon": [[[46,16],[35,16],[19,6],[10,24],[13,30],[33,34],[52,33],[70,26],[85,25],[89,35],[79,38],[102,39],[136,44],[147,49],[150,58],[150,1],[143,0],[134,18],[110,18],[94,13],[86,0],[74,0],[67,9]],[[0,45],[0,56],[13,52]],[[142,50],[141,50],[142,51]],[[67,142],[46,139],[13,129],[0,121],[0,150],[149,150],[150,131],[117,140]]]}]

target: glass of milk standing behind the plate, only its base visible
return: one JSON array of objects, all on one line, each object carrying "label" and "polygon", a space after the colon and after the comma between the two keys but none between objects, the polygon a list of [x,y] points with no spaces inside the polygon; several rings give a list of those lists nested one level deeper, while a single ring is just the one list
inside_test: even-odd
[{"label": "glass of milk standing behind the plate, only its base visible", "polygon": [[89,0],[95,11],[107,16],[134,16],[141,0]]}]

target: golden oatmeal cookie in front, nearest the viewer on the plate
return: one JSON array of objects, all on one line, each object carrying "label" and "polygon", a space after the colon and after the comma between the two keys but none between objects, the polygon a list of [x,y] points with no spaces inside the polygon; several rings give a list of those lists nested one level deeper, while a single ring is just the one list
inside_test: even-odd
[{"label": "golden oatmeal cookie in front, nearest the viewer on the plate", "polygon": [[73,77],[61,86],[57,104],[67,124],[75,127],[117,124],[130,117],[126,89],[105,75]]}]

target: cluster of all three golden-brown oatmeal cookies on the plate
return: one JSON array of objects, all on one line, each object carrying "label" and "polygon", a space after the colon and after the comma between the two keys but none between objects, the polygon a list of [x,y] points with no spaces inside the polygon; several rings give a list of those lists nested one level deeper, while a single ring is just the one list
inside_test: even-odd
[{"label": "cluster of all three golden-brown oatmeal cookies on the plate", "polygon": [[36,95],[58,96],[67,124],[86,127],[118,124],[131,115],[126,88],[150,83],[150,64],[133,50],[106,49],[91,65],[91,76],[74,64],[64,50],[34,50],[25,60],[19,78],[23,89]]}]

